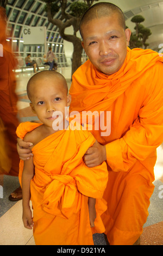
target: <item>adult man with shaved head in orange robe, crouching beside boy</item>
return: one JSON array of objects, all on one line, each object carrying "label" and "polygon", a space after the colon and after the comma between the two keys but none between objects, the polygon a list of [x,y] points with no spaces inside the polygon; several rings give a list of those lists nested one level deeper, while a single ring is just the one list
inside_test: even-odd
[{"label": "adult man with shaved head in orange robe, crouching beside boy", "polygon": [[[121,9],[111,3],[87,10],[80,33],[89,60],[72,77],[70,111],[105,111],[106,117],[111,112],[110,135],[93,129],[97,141],[85,163],[107,161],[106,235],[110,245],[133,245],[147,220],[156,148],[163,141],[163,58],[128,48],[131,32]],[[30,155],[18,152],[24,159]]]}]

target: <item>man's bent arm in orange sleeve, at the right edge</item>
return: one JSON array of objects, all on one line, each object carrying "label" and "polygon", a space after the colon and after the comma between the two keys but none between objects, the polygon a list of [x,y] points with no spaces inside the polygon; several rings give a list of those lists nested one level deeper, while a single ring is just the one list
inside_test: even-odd
[{"label": "man's bent arm in orange sleeve, at the right edge", "polygon": [[153,85],[139,115],[126,134],[106,144],[106,159],[112,170],[127,172],[136,161],[153,157],[163,141],[163,83]]}]

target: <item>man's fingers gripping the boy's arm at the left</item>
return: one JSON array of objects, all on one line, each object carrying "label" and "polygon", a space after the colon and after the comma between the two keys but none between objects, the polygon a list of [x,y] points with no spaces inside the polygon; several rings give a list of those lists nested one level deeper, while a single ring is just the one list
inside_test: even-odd
[{"label": "man's fingers gripping the boy's arm at the left", "polygon": [[26,161],[30,159],[30,156],[33,156],[30,150],[32,145],[30,142],[24,142],[21,138],[17,138],[17,153],[21,160]]}]

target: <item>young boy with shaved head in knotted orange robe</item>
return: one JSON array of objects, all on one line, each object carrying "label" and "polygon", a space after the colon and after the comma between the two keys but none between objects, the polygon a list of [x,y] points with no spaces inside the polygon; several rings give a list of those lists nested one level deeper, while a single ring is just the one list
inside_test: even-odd
[{"label": "young boy with shaved head in knotted orange robe", "polygon": [[33,143],[33,158],[20,162],[24,227],[34,228],[36,245],[93,245],[92,232],[105,230],[100,215],[106,205],[100,198],[108,180],[105,162],[93,168],[83,162],[95,138],[65,119],[71,96],[58,72],[34,75],[27,94],[41,123],[22,123],[16,131]]}]

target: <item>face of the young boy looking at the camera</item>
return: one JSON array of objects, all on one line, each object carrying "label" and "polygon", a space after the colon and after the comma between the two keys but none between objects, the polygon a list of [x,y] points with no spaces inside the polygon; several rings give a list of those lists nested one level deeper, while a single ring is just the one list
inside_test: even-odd
[{"label": "face of the young boy looking at the camera", "polygon": [[67,96],[63,80],[58,77],[36,80],[30,86],[30,95],[30,106],[43,124],[52,127],[53,121],[62,117],[63,125],[65,124],[65,107],[70,106],[71,96]]}]

